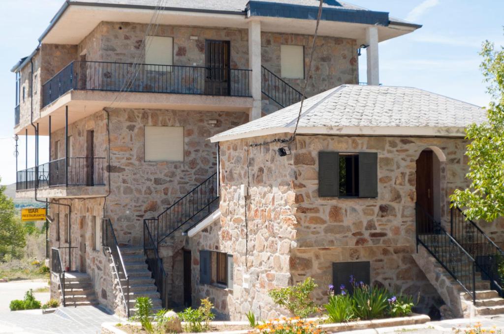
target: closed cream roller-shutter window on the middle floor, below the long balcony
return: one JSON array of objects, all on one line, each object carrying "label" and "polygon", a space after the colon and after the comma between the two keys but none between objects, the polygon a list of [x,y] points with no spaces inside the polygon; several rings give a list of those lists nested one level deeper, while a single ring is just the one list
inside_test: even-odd
[{"label": "closed cream roller-shutter window on the middle floor, below the long balcony", "polygon": [[145,161],[183,161],[184,128],[181,126],[146,126]]}]

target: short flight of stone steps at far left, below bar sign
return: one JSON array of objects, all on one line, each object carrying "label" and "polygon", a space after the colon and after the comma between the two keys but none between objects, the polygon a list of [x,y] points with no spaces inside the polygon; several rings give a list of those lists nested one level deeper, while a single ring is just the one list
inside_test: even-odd
[{"label": "short flight of stone steps at far left, below bar sign", "polygon": [[95,306],[98,299],[87,274],[78,272],[65,273],[65,306]]}]

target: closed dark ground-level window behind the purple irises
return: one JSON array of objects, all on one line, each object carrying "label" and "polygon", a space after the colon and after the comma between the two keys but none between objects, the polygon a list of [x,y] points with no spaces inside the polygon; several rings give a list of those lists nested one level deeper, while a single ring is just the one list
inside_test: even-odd
[{"label": "closed dark ground-level window behind the purple irises", "polygon": [[362,282],[369,285],[369,261],[333,263],[333,285],[335,289],[339,290],[339,287],[344,285],[345,288],[351,292],[352,285],[350,284],[350,276],[352,276],[357,283]]}]

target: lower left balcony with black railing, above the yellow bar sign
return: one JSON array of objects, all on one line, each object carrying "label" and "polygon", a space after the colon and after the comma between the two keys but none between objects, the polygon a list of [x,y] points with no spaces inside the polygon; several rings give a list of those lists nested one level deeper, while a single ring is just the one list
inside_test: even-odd
[{"label": "lower left balcony with black railing, above the yellow bar sign", "polygon": [[[26,191],[40,189],[40,197],[74,197],[99,196],[102,190],[84,191],[83,188],[104,186],[105,158],[101,157],[69,157],[52,160],[18,171],[16,175],[16,190]],[[73,190],[71,187],[74,187]],[[51,191],[57,190],[57,191]],[[30,197],[31,193],[27,196]]]}]

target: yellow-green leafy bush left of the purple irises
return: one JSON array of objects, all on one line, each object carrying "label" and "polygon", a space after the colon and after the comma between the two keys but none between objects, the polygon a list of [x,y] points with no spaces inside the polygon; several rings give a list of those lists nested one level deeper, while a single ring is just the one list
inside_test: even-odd
[{"label": "yellow-green leafy bush left of the purple irises", "polygon": [[310,293],[317,287],[315,281],[308,277],[304,282],[286,288],[271,290],[268,294],[273,301],[292,312],[295,316],[306,318],[319,310],[310,298]]}]

